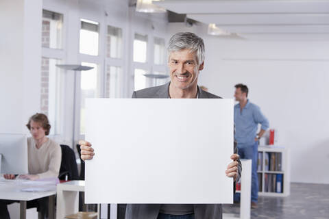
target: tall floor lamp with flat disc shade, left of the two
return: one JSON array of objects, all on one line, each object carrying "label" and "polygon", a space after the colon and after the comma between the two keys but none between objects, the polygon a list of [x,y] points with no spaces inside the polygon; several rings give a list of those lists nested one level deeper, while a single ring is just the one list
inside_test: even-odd
[{"label": "tall floor lamp with flat disc shade, left of the two", "polygon": [[73,93],[73,140],[72,140],[72,148],[74,149],[74,140],[75,140],[75,92],[76,92],[76,86],[77,86],[77,72],[82,70],[90,70],[94,67],[90,66],[82,66],[80,64],[56,64],[58,68],[64,69],[64,70],[73,70],[74,71],[74,93]]}]

